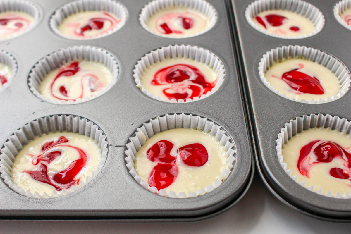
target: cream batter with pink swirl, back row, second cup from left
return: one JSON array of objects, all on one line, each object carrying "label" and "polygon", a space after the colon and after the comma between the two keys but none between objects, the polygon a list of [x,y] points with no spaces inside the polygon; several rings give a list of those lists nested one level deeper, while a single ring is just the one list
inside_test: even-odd
[{"label": "cream batter with pink swirl, back row, second cup from left", "polygon": [[[103,27],[98,28],[92,21],[103,22]],[[67,16],[58,26],[58,30],[72,39],[93,39],[105,36],[119,28],[121,19],[111,12],[83,11]],[[82,27],[91,27],[82,31]]]}]

